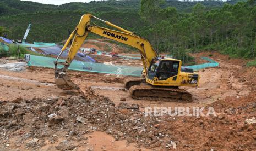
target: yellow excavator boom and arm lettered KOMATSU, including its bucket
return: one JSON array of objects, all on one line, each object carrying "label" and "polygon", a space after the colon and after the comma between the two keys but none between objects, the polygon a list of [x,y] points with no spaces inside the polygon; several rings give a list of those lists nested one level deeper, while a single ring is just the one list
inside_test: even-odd
[{"label": "yellow excavator boom and arm lettered KOMATSU, including its bucket", "polygon": [[[110,30],[108,28],[103,28],[99,26],[93,26],[91,25],[91,19],[95,18],[97,20],[100,20],[104,22],[105,24],[116,28],[119,31],[116,30]],[[143,62],[143,74],[147,74],[147,69],[150,66],[150,63],[152,59],[155,59],[157,57],[157,53],[150,44],[150,42],[142,37],[139,37],[135,35],[134,33],[124,30],[123,28],[116,26],[108,21],[101,20],[99,18],[96,18],[95,16],[91,14],[85,14],[81,17],[81,20],[77,27],[75,27],[75,30],[70,34],[70,37],[68,38],[67,42],[64,44],[64,47],[62,48],[61,53],[58,55],[56,61],[55,61],[55,82],[59,88],[62,89],[69,89],[74,88],[74,84],[71,82],[70,78],[66,74],[68,67],[70,66],[70,63],[73,61],[75,55],[77,54],[77,51],[80,49],[81,45],[84,43],[84,40],[88,36],[88,33],[94,33],[102,37],[106,37],[112,40],[115,40],[117,42],[130,45],[134,48],[137,48],[141,54],[141,60]],[[72,45],[70,46],[68,56],[65,62],[59,62],[58,59],[63,53],[64,50],[66,50],[68,44],[72,41]],[[61,64],[63,65],[62,68],[58,69],[57,65]]]}]

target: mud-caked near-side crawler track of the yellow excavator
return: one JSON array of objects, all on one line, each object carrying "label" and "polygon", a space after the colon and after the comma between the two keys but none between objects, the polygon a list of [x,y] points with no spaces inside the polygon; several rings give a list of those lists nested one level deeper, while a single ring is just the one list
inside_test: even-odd
[{"label": "mud-caked near-side crawler track of the yellow excavator", "polygon": [[151,85],[134,85],[129,89],[130,95],[138,100],[168,102],[191,102],[192,95],[184,89],[162,88]]}]

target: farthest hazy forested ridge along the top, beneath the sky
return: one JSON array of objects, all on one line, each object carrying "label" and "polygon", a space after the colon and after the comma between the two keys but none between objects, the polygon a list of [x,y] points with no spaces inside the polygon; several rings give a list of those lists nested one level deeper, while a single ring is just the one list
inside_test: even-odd
[{"label": "farthest hazy forested ridge along the top, beneath the sky", "polygon": [[[231,0],[227,2],[221,1],[200,1],[205,7],[221,7],[225,3],[235,4],[238,1],[243,0]],[[188,12],[192,10],[192,7],[199,3],[198,1],[176,1],[166,0],[166,3],[161,7],[176,7],[178,11]],[[47,5],[30,1],[20,0],[1,0],[0,1],[0,16],[1,15],[13,15],[20,13],[35,13],[42,11],[59,11],[59,10],[84,10],[84,11],[112,11],[122,9],[140,9],[140,0],[109,0],[109,1],[91,1],[89,3],[67,3],[60,6]],[[133,10],[134,11],[134,10]]]}]

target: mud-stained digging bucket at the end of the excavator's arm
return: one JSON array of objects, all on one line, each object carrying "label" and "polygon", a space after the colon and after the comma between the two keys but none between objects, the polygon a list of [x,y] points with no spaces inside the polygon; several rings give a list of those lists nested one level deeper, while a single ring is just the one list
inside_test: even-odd
[{"label": "mud-stained digging bucket at the end of the excavator's arm", "polygon": [[64,73],[59,72],[55,75],[55,84],[61,89],[74,89],[75,84],[71,81],[70,77]]}]

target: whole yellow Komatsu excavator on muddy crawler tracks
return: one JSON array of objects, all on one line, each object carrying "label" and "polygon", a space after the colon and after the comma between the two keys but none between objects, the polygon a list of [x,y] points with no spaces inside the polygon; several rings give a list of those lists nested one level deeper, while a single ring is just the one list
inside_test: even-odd
[{"label": "whole yellow Komatsu excavator on muddy crawler tracks", "polygon": [[[100,20],[106,25],[116,28],[118,31],[93,24],[91,19]],[[178,99],[188,102],[192,100],[192,95],[184,89],[179,89],[179,86],[198,86],[200,78],[198,73],[195,73],[193,69],[183,68],[181,60],[158,57],[157,52],[152,48],[147,39],[124,30],[111,22],[99,19],[92,14],[84,14],[81,17],[79,24],[70,34],[55,61],[55,83],[59,88],[74,88],[74,84],[66,72],[88,33],[95,33],[139,50],[141,61],[143,62],[142,76],[139,79],[126,79],[124,84],[132,98],[156,101],[173,101],[173,99]],[[66,50],[70,42],[72,44],[66,61],[59,62],[59,57]],[[63,67],[57,68],[59,64],[63,65]]]}]

